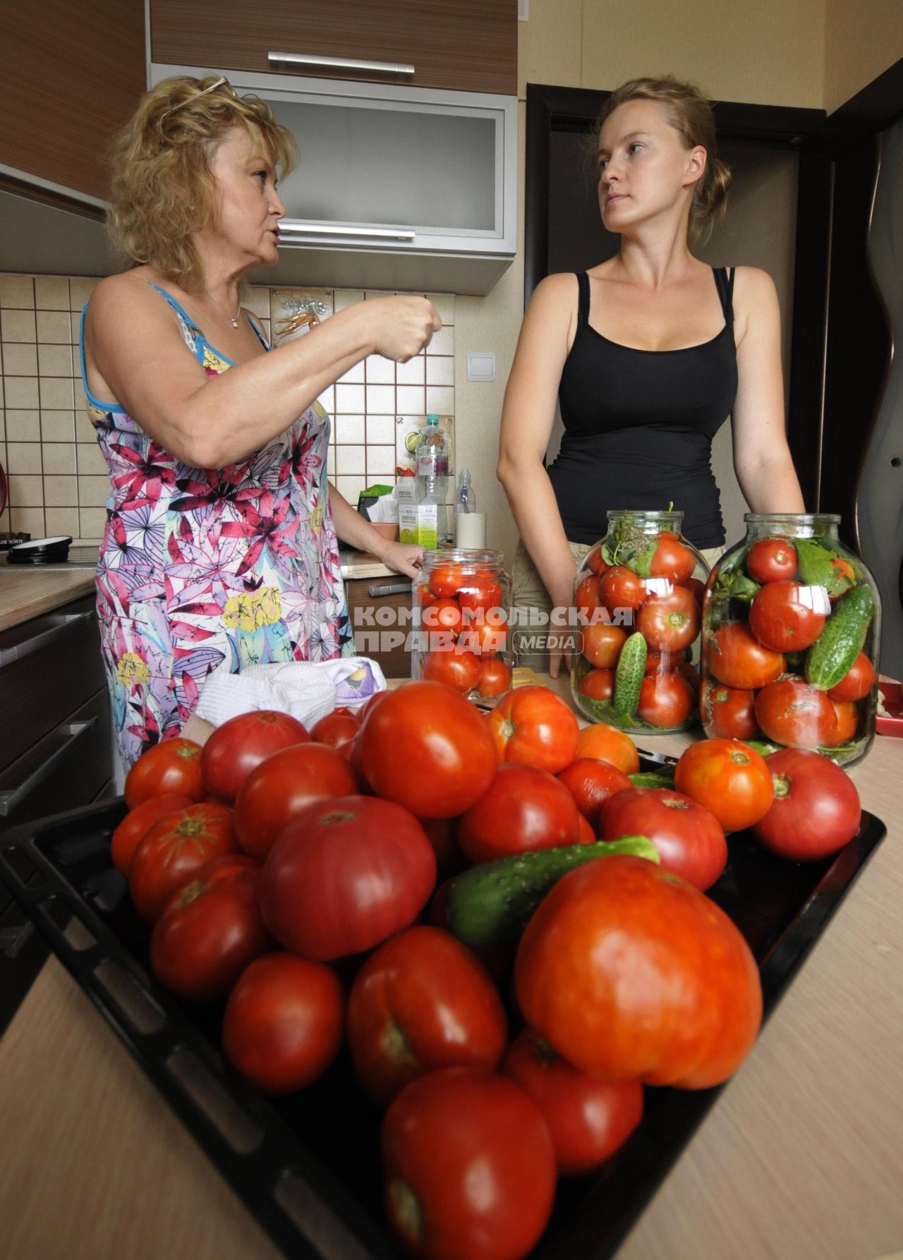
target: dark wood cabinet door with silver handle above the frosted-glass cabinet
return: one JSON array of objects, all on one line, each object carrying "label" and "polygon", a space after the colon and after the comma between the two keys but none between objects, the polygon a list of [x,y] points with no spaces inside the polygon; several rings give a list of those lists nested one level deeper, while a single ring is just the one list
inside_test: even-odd
[{"label": "dark wood cabinet door with silver handle above the frosted-glass cabinet", "polygon": [[[469,92],[518,91],[516,0],[151,0],[151,60]],[[413,74],[273,64],[270,53],[408,64]]]}]

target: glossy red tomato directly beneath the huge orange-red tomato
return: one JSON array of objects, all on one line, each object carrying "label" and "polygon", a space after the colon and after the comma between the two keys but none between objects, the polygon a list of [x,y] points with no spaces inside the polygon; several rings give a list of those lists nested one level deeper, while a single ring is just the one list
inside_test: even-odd
[{"label": "glossy red tomato directly beneath the huge orange-red tomato", "polygon": [[563,1177],[593,1172],[611,1159],[642,1119],[640,1081],[594,1080],[529,1028],[514,1038],[501,1070],[543,1113]]}]

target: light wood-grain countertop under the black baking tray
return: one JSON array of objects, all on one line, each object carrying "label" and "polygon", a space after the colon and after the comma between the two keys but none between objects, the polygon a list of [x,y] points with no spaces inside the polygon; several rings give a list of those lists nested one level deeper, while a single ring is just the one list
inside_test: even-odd
[{"label": "light wood-grain countertop under the black baking tray", "polygon": [[[903,1249],[900,771],[887,737],[853,769],[888,835],[617,1260]],[[9,1260],[280,1255],[55,960],[0,1041],[0,1115]]]}]

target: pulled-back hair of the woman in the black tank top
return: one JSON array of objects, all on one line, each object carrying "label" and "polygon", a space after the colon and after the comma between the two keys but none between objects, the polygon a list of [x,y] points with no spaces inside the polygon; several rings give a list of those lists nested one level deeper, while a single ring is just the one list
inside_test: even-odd
[{"label": "pulled-back hair of the woman in the black tank top", "polygon": [[712,101],[694,83],[684,83],[671,74],[664,78],[630,79],[616,88],[602,106],[593,132],[597,147],[602,123],[627,101],[661,102],[670,126],[678,132],[684,146],[695,149],[696,145],[701,145],[705,149],[708,155],[705,170],[696,180],[690,207],[690,236],[698,239],[707,222],[723,217],[732,179],[730,169],[718,156]]}]

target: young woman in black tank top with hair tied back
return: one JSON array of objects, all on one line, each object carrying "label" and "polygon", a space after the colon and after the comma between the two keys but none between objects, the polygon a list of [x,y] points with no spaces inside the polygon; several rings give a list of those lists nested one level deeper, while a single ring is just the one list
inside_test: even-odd
[{"label": "young woman in black tank top with hair tied back", "polygon": [[[608,509],[684,509],[712,562],[724,544],[712,438],[732,417],[754,512],[802,512],[783,421],[771,277],[712,268],[690,243],[724,204],[709,102],[674,78],[633,79],[599,118],[599,209],[620,252],[548,276],[524,319],[501,420],[499,478],[520,528],[514,601],[567,607]],[[560,402],[564,437],[543,457]],[[557,675],[559,658],[550,672]]]}]

